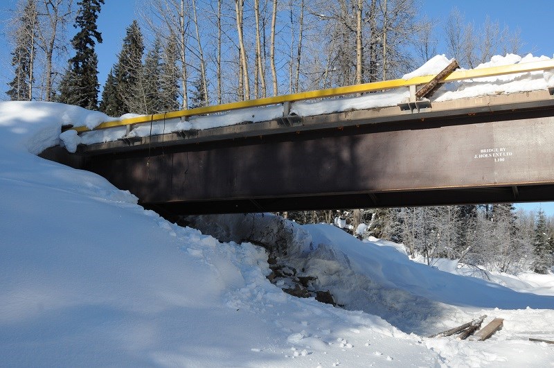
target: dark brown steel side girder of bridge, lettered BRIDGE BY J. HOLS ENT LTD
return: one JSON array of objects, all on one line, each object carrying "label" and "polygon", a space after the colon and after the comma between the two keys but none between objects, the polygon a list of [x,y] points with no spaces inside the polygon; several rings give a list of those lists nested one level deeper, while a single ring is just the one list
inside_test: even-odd
[{"label": "dark brown steel side girder of bridge, lettered BRIDGE BY J. HOLS ENT LTD", "polygon": [[318,129],[88,152],[75,166],[167,215],[548,201],[551,104],[377,123],[350,114]]}]

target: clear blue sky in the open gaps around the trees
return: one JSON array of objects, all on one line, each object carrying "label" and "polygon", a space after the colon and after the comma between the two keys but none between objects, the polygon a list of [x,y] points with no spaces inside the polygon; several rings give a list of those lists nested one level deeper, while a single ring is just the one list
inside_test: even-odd
[{"label": "clear blue sky in the open gaps around the trees", "polygon": [[[76,2],[77,0],[75,0]],[[10,69],[10,47],[6,44],[4,25],[10,17],[10,9],[15,8],[16,0],[1,0],[0,3],[0,91],[6,91],[6,83],[12,78]],[[552,0],[418,0],[420,14],[435,19],[436,28],[443,28],[442,22],[448,17],[452,8],[456,7],[465,15],[466,21],[473,21],[476,26],[483,24],[488,15],[492,21],[506,24],[510,30],[519,28],[524,41],[524,52],[534,55],[554,55],[554,37],[551,35]],[[102,33],[104,42],[96,48],[98,53],[98,78],[103,85],[107,73],[116,62],[125,28],[133,19],[138,19],[136,0],[105,0],[102,12],[98,17],[98,30]],[[71,28],[71,31],[73,28]],[[438,53],[445,53],[442,45],[438,45]],[[448,56],[448,55],[447,55]],[[3,93],[1,93],[3,95]],[[5,98],[5,97],[2,97]],[[522,204],[528,210],[542,207],[546,213],[554,215],[554,202],[543,204]]]}]

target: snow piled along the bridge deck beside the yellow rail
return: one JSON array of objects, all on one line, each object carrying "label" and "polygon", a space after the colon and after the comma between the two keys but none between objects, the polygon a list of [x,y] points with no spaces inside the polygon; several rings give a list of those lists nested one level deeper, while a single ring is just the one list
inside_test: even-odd
[{"label": "snow piled along the bridge deck beside the yellow rail", "polygon": [[[500,67],[503,65],[523,64],[528,62],[537,62],[550,60],[547,56],[536,57],[528,54],[524,57],[515,54],[505,56],[495,55],[490,62],[478,65],[475,69],[488,67]],[[445,55],[436,55],[420,68],[404,75],[404,79],[415,78],[418,76],[428,76],[439,73],[451,60]],[[515,73],[506,76],[494,76],[488,78],[474,78],[462,80],[459,82],[449,82],[441,87],[431,101],[456,100],[460,98],[470,98],[477,96],[513,94],[517,92],[538,91],[554,87],[554,71],[533,71],[530,73]],[[342,98],[330,98],[320,101],[298,101],[292,103],[290,113],[298,116],[312,116],[319,114],[330,114],[332,112],[343,112],[355,109],[371,109],[375,107],[396,106],[399,103],[409,100],[409,91],[407,88],[391,89],[364,96],[348,96]],[[258,123],[260,121],[269,121],[283,116],[283,105],[269,105],[265,107],[251,107],[219,114],[209,114],[206,116],[191,116],[188,120],[183,119],[163,119],[153,123],[143,123],[134,125],[133,130],[127,134],[125,127],[111,128],[107,130],[97,130],[84,132],[77,135],[75,131],[69,130],[62,134],[66,148],[70,152],[75,152],[79,143],[92,144],[107,141],[116,141],[123,137],[148,137],[149,135],[164,134],[169,132],[179,132],[181,130],[203,130],[217,128],[226,125],[236,125],[249,122]],[[122,118],[136,115],[127,114],[120,118],[110,118],[105,116],[104,121],[120,120]],[[88,128],[94,128],[101,121],[89,120],[83,122],[69,121],[73,125],[85,125]]]}]

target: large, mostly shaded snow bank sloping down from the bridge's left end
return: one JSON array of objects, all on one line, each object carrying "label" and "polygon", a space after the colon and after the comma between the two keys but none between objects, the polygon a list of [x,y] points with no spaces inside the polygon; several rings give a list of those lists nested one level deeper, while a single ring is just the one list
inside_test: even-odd
[{"label": "large, mostly shaded snow bank sloping down from the bridge's left end", "polygon": [[0,103],[0,365],[438,362],[378,317],[285,294],[260,247],[173,225],[105,179],[28,152],[78,119],[98,114]]}]

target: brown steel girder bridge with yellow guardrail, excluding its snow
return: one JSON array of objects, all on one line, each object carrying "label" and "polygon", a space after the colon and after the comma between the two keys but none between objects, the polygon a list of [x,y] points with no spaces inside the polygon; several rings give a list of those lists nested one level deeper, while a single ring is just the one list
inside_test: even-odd
[{"label": "brown steel girder bridge with yellow guardrail, excluding its snow", "polygon": [[[554,60],[454,71],[440,83],[554,69]],[[416,96],[437,76],[249,100],[98,125],[114,141],[42,156],[98,173],[166,216],[554,200],[551,89],[443,102]],[[406,91],[394,106],[292,114],[294,104]],[[375,94],[377,96],[377,94]],[[323,104],[325,104],[323,100]],[[278,117],[217,128],[137,127],[271,105]],[[214,117],[215,119],[215,117]],[[185,125],[186,126],[186,125]],[[87,134],[88,128],[67,127]],[[156,129],[154,129],[156,131]]]}]

